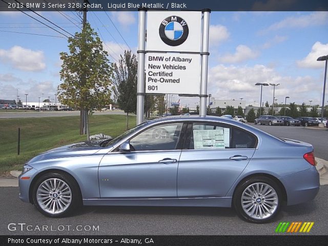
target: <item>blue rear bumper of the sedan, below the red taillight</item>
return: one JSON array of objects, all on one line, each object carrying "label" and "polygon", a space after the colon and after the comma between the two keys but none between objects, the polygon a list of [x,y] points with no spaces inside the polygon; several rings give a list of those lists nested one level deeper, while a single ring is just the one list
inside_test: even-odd
[{"label": "blue rear bumper of the sedan, below the red taillight", "polygon": [[285,187],[287,205],[313,200],[319,192],[319,173],[315,167],[279,179]]}]

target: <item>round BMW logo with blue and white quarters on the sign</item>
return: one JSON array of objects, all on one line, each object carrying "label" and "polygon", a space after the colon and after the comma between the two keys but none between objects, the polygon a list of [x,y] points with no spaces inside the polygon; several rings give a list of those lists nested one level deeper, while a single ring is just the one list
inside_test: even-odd
[{"label": "round BMW logo with blue and white quarters on the sign", "polygon": [[169,16],[159,26],[159,36],[169,46],[178,46],[186,41],[189,28],[184,19],[179,16]]}]

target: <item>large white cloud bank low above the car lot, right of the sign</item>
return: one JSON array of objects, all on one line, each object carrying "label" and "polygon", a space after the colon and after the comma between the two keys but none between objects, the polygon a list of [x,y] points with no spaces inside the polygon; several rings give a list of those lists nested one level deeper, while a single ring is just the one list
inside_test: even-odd
[{"label": "large white cloud bank low above the car lot, right of the sign", "polygon": [[[250,66],[224,66],[217,65],[209,70],[208,92],[216,99],[238,99],[240,97],[247,104],[259,103],[260,87],[256,83],[280,84],[275,89],[278,103],[284,101],[285,96],[290,96],[289,101],[298,104],[308,98],[317,98],[313,103],[320,103],[322,81],[311,76],[282,76],[273,68],[264,65]],[[273,87],[263,87],[262,101],[272,103]]]}]

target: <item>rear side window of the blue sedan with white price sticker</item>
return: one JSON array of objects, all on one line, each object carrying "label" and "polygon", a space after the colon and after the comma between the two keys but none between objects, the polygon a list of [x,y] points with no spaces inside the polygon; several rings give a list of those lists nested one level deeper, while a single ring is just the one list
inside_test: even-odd
[{"label": "rear side window of the blue sedan with white price sticker", "polygon": [[226,125],[194,123],[189,149],[254,149],[257,138],[250,132]]}]

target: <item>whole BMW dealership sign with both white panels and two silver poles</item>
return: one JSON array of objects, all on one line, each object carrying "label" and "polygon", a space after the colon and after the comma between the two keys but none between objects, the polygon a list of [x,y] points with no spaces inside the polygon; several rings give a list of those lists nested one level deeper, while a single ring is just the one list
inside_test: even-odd
[{"label": "whole BMW dealership sign with both white panels and two silver poles", "polygon": [[137,125],[144,121],[146,93],[200,97],[205,116],[210,10],[148,10],[147,46],[145,22],[146,10],[139,9]]}]

